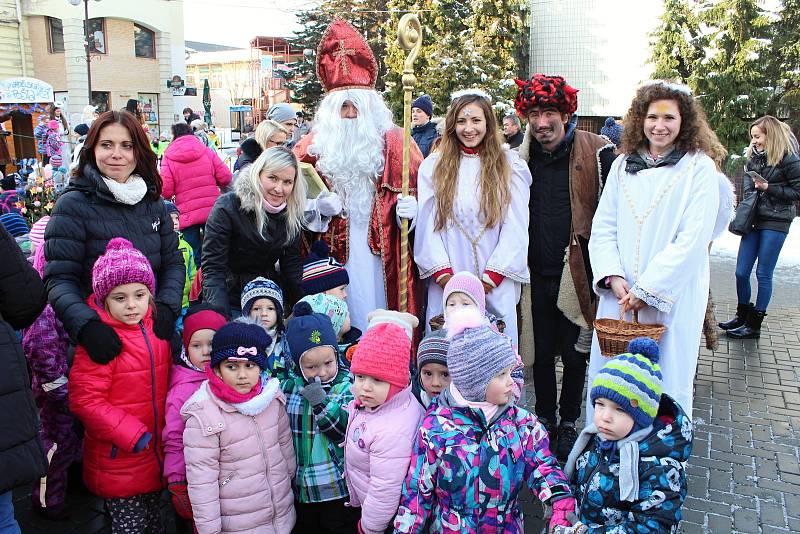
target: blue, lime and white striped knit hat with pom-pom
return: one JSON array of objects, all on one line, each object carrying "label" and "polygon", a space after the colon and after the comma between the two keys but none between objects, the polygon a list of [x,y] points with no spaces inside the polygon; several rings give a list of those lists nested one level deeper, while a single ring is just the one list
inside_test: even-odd
[{"label": "blue, lime and white striped knit hat with pom-pom", "polygon": [[653,424],[658,412],[661,380],[658,343],[637,337],[628,344],[628,352],[609,360],[597,372],[589,398],[592,403],[596,399],[616,402],[638,428],[645,428]]}]

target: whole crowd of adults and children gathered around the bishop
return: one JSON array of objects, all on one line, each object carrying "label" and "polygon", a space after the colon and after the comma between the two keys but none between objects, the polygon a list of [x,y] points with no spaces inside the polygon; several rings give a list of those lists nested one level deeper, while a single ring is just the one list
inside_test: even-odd
[{"label": "whole crowd of adults and children gathered around the bishop", "polygon": [[[674,532],[709,244],[734,206],[691,91],[643,84],[603,136],[576,127],[559,76],[518,80],[502,131],[480,90],[438,124],[422,95],[402,194],[367,43],[334,22],[317,61],[313,127],[273,106],[234,173],[190,109],[161,154],[135,109],[109,111],[32,265],[0,228],[0,531],[26,483],[67,518],[80,461],[115,533],[162,532],[165,489],[186,532],[522,533],[524,486],[555,534]],[[791,131],[766,117],[751,135],[734,337],[758,335],[800,198]],[[631,313],[665,333],[603,353],[594,319]]]}]

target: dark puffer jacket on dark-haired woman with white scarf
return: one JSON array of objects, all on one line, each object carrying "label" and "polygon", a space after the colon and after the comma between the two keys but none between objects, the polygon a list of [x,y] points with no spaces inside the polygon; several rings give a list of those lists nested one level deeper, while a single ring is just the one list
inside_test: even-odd
[{"label": "dark puffer jacket on dark-haired woman with white scarf", "polygon": [[122,204],[97,169],[87,165],[56,202],[45,231],[45,283],[73,342],[87,321],[100,320],[86,297],[92,293],[94,262],[115,237],[124,237],[147,257],[156,275],[156,302],[180,313],[186,269],[167,208],[152,193],[133,206]]}]

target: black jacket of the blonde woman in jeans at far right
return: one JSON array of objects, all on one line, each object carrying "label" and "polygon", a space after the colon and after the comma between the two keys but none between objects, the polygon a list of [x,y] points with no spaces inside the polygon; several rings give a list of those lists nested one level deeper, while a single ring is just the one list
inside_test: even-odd
[{"label": "black jacket of the blonde woman in jeans at far right", "polygon": [[[756,230],[788,233],[797,215],[795,202],[800,200],[800,158],[796,154],[787,154],[778,165],[771,167],[767,165],[766,154],[753,154],[745,169],[757,172],[769,182],[758,201]],[[743,185],[745,196],[755,191],[750,177],[744,177]]]}]

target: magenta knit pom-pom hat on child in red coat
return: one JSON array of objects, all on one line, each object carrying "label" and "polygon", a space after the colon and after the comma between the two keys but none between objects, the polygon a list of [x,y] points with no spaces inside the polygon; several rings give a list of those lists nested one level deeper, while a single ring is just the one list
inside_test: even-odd
[{"label": "magenta knit pom-pom hat on child in red coat", "polygon": [[151,295],[156,294],[153,268],[144,254],[122,237],[108,242],[106,253],[97,258],[92,267],[92,290],[98,306],[115,287],[125,284],[144,284]]}]

